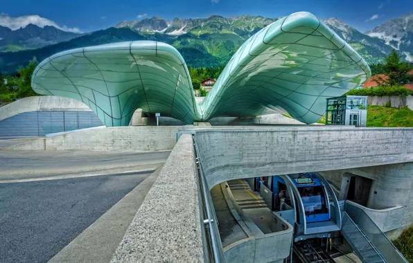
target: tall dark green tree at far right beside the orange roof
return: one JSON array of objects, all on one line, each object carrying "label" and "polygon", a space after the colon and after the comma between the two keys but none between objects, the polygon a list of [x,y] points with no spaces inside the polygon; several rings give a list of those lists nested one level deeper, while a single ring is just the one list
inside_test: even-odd
[{"label": "tall dark green tree at far right beside the orange roof", "polygon": [[385,85],[389,86],[401,86],[412,81],[412,75],[409,71],[413,69],[413,66],[407,62],[401,62],[401,55],[399,55],[394,49],[385,58],[385,75],[389,78],[384,80]]}]

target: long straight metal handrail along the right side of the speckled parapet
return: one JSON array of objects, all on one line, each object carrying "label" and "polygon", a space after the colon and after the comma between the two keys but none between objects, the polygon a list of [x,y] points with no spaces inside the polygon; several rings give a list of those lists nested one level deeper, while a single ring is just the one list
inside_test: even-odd
[{"label": "long straight metal handrail along the right side of the speckled parapet", "polygon": [[209,246],[211,246],[211,250],[212,250],[212,254],[213,254],[213,262],[216,263],[225,263],[225,257],[224,257],[224,253],[222,250],[222,243],[220,242],[220,237],[219,237],[219,233],[217,236],[217,232],[218,232],[218,224],[217,224],[217,219],[215,216],[215,212],[212,210],[213,208],[213,204],[212,204],[212,200],[209,196],[209,190],[207,188],[207,182],[205,180],[205,176],[204,176],[204,172],[202,169],[202,163],[201,163],[201,158],[199,155],[199,149],[197,146],[197,142],[196,142],[196,138],[195,136],[193,136],[193,144],[195,147],[195,160],[196,160],[196,164],[199,167],[199,174],[198,174],[198,169],[196,169],[195,167],[195,172],[198,176],[198,179],[200,181],[200,188],[201,188],[201,192],[202,192],[202,201],[204,203],[204,210],[207,214],[207,219],[204,219],[204,226],[205,228],[209,228],[209,231],[206,231],[206,233],[209,233],[209,241],[211,244],[209,244]]}]

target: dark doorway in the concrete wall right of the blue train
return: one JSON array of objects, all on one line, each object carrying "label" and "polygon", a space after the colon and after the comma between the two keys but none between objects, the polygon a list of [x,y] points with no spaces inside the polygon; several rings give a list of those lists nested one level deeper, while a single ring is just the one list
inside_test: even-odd
[{"label": "dark doorway in the concrete wall right of the blue train", "polygon": [[349,190],[346,199],[367,207],[372,183],[373,180],[369,178],[352,174],[349,177]]}]

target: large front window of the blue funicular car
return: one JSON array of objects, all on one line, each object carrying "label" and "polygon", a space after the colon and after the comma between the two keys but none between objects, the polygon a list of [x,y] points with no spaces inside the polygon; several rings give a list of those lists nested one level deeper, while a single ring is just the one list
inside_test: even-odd
[{"label": "large front window of the blue funicular car", "polygon": [[307,216],[328,213],[326,195],[322,186],[301,187],[298,191]]}]

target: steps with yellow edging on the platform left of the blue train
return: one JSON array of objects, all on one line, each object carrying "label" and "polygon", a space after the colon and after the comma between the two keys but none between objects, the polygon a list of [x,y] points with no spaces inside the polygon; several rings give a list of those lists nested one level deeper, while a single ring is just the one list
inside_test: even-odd
[{"label": "steps with yellow edging on the platform left of the blue train", "polygon": [[241,209],[267,208],[263,198],[256,195],[246,181],[238,179],[227,183]]}]

